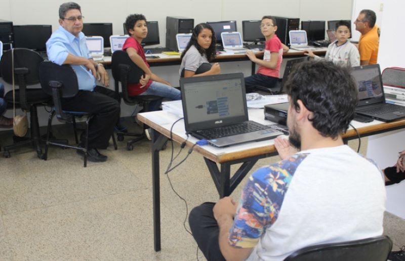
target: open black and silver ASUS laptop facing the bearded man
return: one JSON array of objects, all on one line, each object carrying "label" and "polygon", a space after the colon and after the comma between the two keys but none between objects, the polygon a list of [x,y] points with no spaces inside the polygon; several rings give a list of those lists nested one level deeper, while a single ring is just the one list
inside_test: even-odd
[{"label": "open black and silver ASUS laptop facing the bearded man", "polygon": [[186,132],[213,146],[267,140],[282,134],[249,121],[242,73],[180,78],[180,88]]}]

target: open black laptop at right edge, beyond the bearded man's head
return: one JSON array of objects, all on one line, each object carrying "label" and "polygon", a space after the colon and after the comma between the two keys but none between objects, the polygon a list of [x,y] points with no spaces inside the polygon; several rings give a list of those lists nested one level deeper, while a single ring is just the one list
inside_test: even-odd
[{"label": "open black laptop at right edge, beyond the bearded man's head", "polygon": [[405,118],[405,107],[385,101],[380,65],[357,66],[352,69],[358,88],[357,114],[383,122]]}]

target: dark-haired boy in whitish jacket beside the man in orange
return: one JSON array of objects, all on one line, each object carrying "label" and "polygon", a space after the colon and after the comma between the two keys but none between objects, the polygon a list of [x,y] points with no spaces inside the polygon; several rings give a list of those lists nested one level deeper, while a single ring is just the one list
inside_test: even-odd
[{"label": "dark-haired boy in whitish jacket beside the man in orange", "polygon": [[[359,66],[360,55],[358,49],[348,38],[350,37],[350,23],[340,20],[335,28],[336,41],[329,44],[325,54],[325,59],[340,66]],[[322,59],[314,55],[312,50],[304,50],[304,54],[313,57],[315,60]]]}]

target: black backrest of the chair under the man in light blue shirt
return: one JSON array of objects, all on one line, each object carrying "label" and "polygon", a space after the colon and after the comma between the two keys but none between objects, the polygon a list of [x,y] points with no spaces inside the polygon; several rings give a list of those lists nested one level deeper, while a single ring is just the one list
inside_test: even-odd
[{"label": "black backrest of the chair under the man in light blue shirt", "polygon": [[72,67],[42,62],[39,65],[39,80],[44,92],[52,96],[56,117],[70,121],[71,116],[62,110],[61,98],[74,97],[79,90],[77,76]]}]

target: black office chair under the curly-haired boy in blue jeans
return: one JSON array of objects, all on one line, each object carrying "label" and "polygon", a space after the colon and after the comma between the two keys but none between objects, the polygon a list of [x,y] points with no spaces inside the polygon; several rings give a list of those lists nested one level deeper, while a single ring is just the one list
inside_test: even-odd
[{"label": "black office chair under the curly-haired boy in blue jeans", "polygon": [[[149,112],[149,103],[151,101],[163,99],[163,97],[155,95],[130,96],[128,94],[128,84],[138,83],[139,79],[143,75],[143,71],[134,62],[132,62],[126,51],[114,51],[111,60],[111,71],[112,77],[114,78],[115,91],[117,93],[119,92],[119,82],[121,82],[121,96],[123,97],[126,104],[141,105],[143,107],[143,112]],[[144,125],[144,129],[145,128],[146,125]],[[137,137],[127,142],[128,150],[133,150],[134,146],[132,144],[145,138],[144,132],[142,132],[141,134],[123,132],[117,133],[117,139],[119,141],[124,140],[124,136]]]}]

